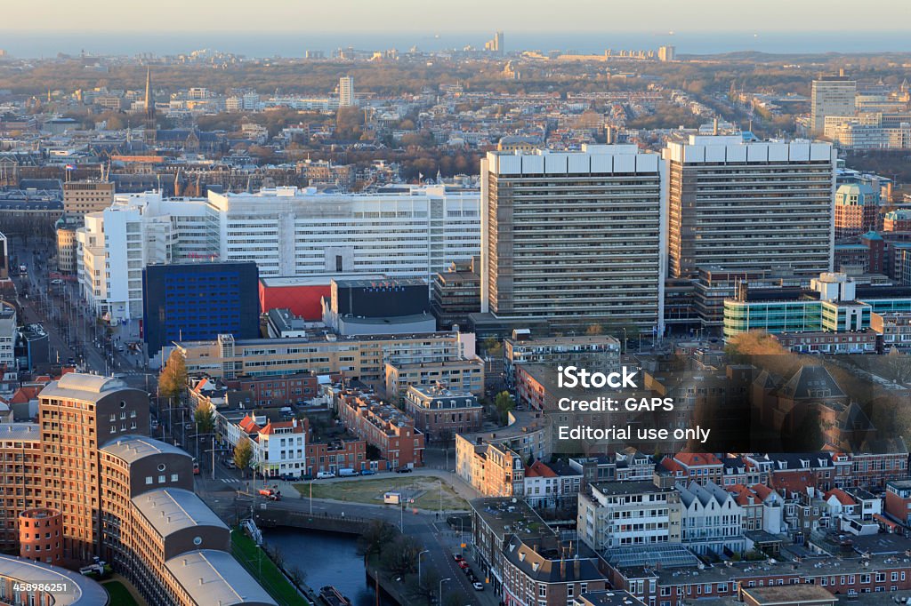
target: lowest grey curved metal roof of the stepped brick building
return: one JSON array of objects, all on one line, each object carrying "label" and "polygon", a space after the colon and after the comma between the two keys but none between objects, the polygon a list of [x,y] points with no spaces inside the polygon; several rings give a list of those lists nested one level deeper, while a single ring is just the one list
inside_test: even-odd
[{"label": "lowest grey curved metal roof of the stepped brick building", "polygon": [[188,551],[166,561],[165,566],[200,606],[275,606],[269,594],[227,551]]}]

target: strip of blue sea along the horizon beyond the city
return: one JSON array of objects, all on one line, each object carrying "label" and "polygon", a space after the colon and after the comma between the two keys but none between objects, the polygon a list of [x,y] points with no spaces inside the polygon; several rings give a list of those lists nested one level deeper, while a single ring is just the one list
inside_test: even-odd
[{"label": "strip of blue sea along the horizon beyond the city", "polygon": [[[57,53],[78,55],[126,55],[140,53],[178,55],[194,50],[211,49],[251,57],[302,56],[305,50],[322,50],[353,46],[363,50],[397,48],[400,52],[417,46],[421,50],[461,49],[466,45],[483,48],[493,32],[432,31],[404,33],[309,32],[263,33],[224,32],[172,35],[156,33],[61,33],[22,32],[0,28],[0,49],[16,57],[49,57]],[[575,50],[579,53],[602,53],[611,48],[657,49],[674,45],[678,54],[715,55],[737,51],[760,51],[781,54],[815,53],[911,53],[907,32],[621,32],[596,34],[525,32],[506,30],[507,51]]]}]

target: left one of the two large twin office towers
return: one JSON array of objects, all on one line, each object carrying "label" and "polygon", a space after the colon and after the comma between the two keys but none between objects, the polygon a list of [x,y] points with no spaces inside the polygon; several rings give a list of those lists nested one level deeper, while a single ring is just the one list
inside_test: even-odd
[{"label": "left one of the two large twin office towers", "polygon": [[663,322],[662,165],[637,146],[481,161],[481,312],[585,326]]}]

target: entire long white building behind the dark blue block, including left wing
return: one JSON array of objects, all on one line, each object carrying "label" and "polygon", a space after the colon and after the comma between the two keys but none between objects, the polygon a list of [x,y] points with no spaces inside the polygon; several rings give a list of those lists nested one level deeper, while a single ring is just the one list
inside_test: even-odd
[{"label": "entire long white building behind the dark blue block, including left wing", "polygon": [[375,194],[279,187],[256,194],[118,196],[77,229],[77,274],[98,316],[141,318],[151,263],[251,260],[260,276],[433,276],[480,251],[480,195],[446,186]]}]

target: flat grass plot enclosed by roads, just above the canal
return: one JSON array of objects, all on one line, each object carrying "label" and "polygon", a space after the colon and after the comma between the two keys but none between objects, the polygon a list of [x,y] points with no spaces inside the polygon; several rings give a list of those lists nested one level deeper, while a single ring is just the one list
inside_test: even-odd
[{"label": "flat grass plot enclosed by roads, just above the canal", "polygon": [[[304,499],[310,497],[310,482],[295,484]],[[431,476],[404,476],[376,478],[373,480],[344,480],[334,482],[312,482],[313,499],[347,500],[353,503],[382,505],[386,492],[399,492],[404,499],[414,499],[406,503],[408,507],[422,510],[440,508],[440,480]],[[468,510],[466,500],[459,497],[453,487],[443,480],[443,509]]]}]

